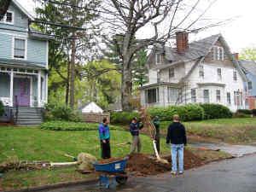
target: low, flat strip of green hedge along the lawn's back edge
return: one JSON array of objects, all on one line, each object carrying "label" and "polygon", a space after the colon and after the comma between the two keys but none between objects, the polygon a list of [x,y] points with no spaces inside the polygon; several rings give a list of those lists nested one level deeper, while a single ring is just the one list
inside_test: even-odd
[{"label": "low, flat strip of green hedge along the lawn's back edge", "polygon": [[[71,121],[48,121],[41,124],[40,128],[51,131],[96,131],[98,130],[99,124],[96,123],[81,123]],[[110,125],[113,130],[118,127]]]}]

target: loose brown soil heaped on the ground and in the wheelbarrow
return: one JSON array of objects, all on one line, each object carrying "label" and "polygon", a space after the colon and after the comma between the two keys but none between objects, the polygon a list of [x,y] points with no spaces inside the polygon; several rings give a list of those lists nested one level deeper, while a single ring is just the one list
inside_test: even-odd
[{"label": "loose brown soil heaped on the ground and in the wheelbarrow", "polygon": [[[160,163],[153,156],[148,154],[131,154],[127,162],[125,172],[135,176],[156,175],[162,172],[171,171],[171,156],[166,156],[164,159],[169,161],[169,165]],[[110,158],[107,160],[99,160],[99,163],[110,163],[123,158]],[[184,169],[190,169],[204,165],[204,160],[196,156],[189,150],[184,150]]]}]

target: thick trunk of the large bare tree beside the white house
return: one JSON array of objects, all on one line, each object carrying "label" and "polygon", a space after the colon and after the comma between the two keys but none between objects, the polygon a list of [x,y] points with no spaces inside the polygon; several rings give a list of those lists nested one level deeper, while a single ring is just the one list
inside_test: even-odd
[{"label": "thick trunk of the large bare tree beside the white house", "polygon": [[122,108],[124,111],[131,111],[131,90],[132,90],[132,74],[128,66],[129,61],[124,61],[122,72]]}]

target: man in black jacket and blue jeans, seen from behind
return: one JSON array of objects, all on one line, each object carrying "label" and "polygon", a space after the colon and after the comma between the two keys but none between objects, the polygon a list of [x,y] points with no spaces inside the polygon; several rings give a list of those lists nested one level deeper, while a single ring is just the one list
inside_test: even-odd
[{"label": "man in black jacket and blue jeans, seen from behind", "polygon": [[177,174],[177,155],[178,173],[183,174],[183,148],[187,144],[185,127],[179,122],[179,116],[173,115],[173,123],[169,125],[166,143],[172,143],[172,174]]}]

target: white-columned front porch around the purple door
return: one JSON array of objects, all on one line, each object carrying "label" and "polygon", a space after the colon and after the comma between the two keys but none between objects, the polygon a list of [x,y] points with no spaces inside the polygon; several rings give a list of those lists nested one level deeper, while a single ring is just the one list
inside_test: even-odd
[{"label": "white-columned front porch around the purple door", "polygon": [[0,66],[0,101],[8,107],[43,108],[48,75],[40,68]]}]

